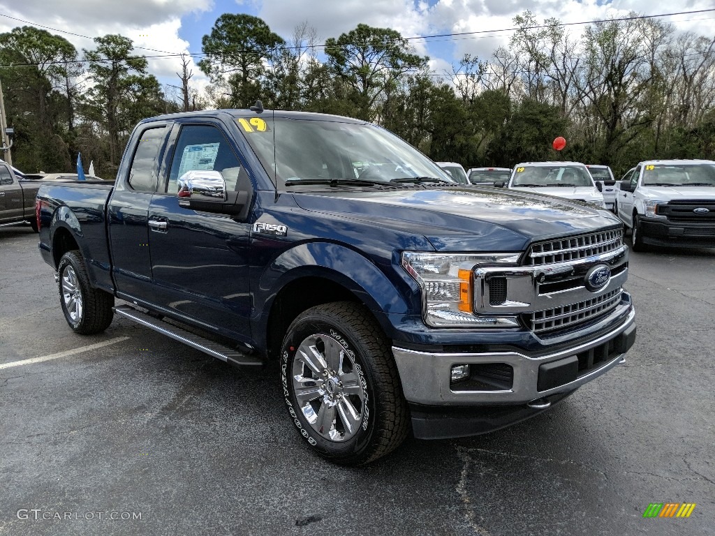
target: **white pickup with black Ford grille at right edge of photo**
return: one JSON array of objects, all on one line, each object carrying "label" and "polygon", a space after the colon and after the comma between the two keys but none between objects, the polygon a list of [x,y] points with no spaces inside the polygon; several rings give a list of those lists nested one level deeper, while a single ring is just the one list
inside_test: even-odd
[{"label": "white pickup with black Ford grille at right edge of photo", "polygon": [[633,230],[633,251],[715,247],[715,162],[639,163],[616,184],[616,214]]}]

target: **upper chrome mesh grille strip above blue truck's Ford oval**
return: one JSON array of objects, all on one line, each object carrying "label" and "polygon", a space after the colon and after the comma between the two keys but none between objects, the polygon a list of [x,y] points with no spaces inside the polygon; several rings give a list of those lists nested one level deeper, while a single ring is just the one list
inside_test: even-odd
[{"label": "upper chrome mesh grille strip above blue truck's Ford oval", "polygon": [[566,237],[533,244],[524,261],[526,266],[542,266],[558,262],[587,259],[612,252],[623,246],[623,229],[609,229],[578,237]]}]

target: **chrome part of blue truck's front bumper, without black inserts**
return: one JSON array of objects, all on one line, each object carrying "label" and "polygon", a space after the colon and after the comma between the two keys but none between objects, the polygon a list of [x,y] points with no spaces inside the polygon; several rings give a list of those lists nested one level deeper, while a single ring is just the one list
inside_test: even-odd
[{"label": "chrome part of blue truck's front bumper, without black inserts", "polygon": [[[446,354],[416,352],[393,347],[395,362],[400,372],[403,392],[408,402],[429,406],[492,406],[526,404],[551,394],[571,392],[612,369],[623,359],[623,353],[609,356],[593,369],[579,375],[572,382],[539,391],[537,382],[539,367],[588,349],[595,348],[624,334],[635,323],[633,309],[626,321],[611,332],[586,344],[539,357],[529,357],[518,352],[493,352],[485,354]],[[634,327],[633,327],[634,329]],[[513,367],[511,389],[490,391],[453,390],[450,387],[450,372],[455,364],[506,363]]]}]

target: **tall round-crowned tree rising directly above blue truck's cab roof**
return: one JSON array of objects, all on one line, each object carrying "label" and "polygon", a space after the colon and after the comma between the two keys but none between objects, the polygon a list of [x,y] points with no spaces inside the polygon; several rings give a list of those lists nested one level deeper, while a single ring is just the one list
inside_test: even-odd
[{"label": "tall round-crowned tree rising directly above blue truck's cab roof", "polygon": [[212,84],[227,81],[233,103],[242,108],[260,99],[266,64],[275,59],[276,47],[285,43],[259,17],[228,13],[216,20],[201,42],[206,58],[199,61],[199,69]]}]

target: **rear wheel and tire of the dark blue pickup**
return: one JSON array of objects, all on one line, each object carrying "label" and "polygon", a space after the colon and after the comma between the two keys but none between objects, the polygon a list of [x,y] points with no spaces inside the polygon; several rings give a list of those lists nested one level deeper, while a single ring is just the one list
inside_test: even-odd
[{"label": "rear wheel and tire of the dark blue pickup", "polygon": [[[114,296],[89,284],[82,255],[77,250],[62,255],[57,274],[59,303],[72,331],[93,335],[107,329],[114,316]],[[76,303],[79,303],[79,308],[74,307]]]}]

